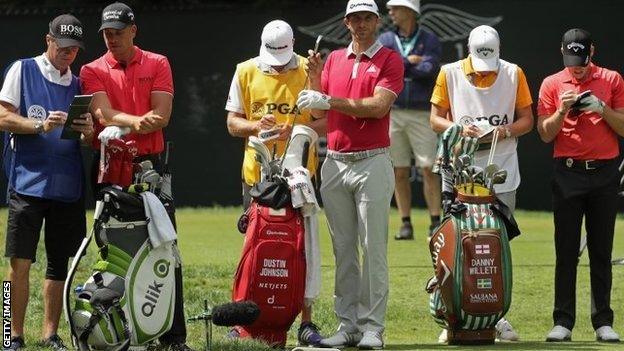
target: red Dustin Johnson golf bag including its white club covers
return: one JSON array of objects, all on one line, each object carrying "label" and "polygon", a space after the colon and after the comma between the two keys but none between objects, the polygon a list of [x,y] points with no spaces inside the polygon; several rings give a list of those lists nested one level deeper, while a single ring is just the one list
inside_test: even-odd
[{"label": "red Dustin Johnson golf bag including its white club covers", "polygon": [[303,308],[305,224],[301,210],[293,208],[291,189],[283,175],[307,164],[310,145],[317,138],[309,127],[295,126],[281,160],[269,159],[266,146],[250,138],[263,181],[250,192],[253,201],[243,221],[247,226],[245,244],[234,277],[232,300],[255,302],[260,317],[251,325],[236,327],[241,337],[283,347],[288,329]]}]

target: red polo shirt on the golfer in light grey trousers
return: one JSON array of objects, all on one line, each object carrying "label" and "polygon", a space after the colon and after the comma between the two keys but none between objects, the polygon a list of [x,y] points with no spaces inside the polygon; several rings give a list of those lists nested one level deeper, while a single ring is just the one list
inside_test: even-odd
[{"label": "red polo shirt on the golfer in light grey trousers", "polygon": [[[403,60],[394,50],[373,44],[361,55],[349,49],[329,54],[321,79],[323,93],[336,98],[371,97],[375,88],[398,95],[403,90]],[[327,112],[327,147],[339,152],[371,150],[390,145],[390,113],[383,118],[355,118],[344,113]]]}]

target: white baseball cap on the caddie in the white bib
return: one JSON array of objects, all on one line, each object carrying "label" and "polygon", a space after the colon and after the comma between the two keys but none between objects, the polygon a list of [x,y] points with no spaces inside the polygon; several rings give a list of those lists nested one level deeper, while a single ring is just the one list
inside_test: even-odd
[{"label": "white baseball cap on the caddie in the white bib", "polygon": [[475,71],[498,71],[500,39],[496,29],[478,26],[470,32],[468,50]]}]

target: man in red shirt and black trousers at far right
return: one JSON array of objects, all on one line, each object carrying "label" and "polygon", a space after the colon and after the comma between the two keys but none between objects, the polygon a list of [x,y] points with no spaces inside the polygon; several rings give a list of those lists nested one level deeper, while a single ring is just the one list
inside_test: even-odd
[{"label": "man in red shirt and black trousers at far right", "polygon": [[[546,341],[570,341],[576,310],[576,267],[585,217],[591,277],[591,319],[598,341],[618,342],[611,309],[611,251],[617,212],[618,136],[624,136],[624,81],[591,62],[583,29],[561,43],[565,68],[542,82],[537,130],[554,141],[554,327]],[[591,91],[582,97],[582,92]],[[584,95],[584,94],[583,94]],[[582,98],[581,98],[582,97]]]}]

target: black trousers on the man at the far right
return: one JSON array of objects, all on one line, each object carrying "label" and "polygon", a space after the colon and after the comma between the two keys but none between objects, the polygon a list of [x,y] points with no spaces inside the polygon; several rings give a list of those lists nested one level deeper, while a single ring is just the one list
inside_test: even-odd
[{"label": "black trousers on the man at the far right", "polygon": [[553,321],[572,330],[576,319],[576,273],[585,217],[594,329],[613,324],[611,251],[617,213],[617,160],[593,170],[555,160],[552,182],[555,222],[555,306]]}]

